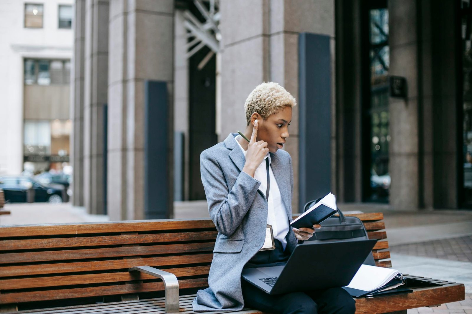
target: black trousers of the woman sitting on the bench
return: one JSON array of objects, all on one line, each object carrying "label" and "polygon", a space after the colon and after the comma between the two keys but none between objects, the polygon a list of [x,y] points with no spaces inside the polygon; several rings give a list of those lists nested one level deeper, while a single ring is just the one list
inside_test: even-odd
[{"label": "black trousers of the woman sitting on the bench", "polygon": [[[288,256],[283,251],[280,241],[275,240],[275,242],[276,248],[274,250],[257,253],[246,264],[246,267],[263,267],[285,263]],[[241,280],[241,284],[244,306],[263,312],[274,314],[355,313],[354,299],[342,288],[270,295],[245,280]]]}]

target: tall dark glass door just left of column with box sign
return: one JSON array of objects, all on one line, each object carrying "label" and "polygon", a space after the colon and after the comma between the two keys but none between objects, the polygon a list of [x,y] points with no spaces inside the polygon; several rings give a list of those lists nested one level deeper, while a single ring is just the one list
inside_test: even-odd
[{"label": "tall dark glass door just left of column with box sign", "polygon": [[[390,174],[388,173],[388,150],[390,135],[388,110],[388,68],[390,50],[388,46],[388,8],[387,1],[368,1],[369,40],[369,73],[365,75],[364,84],[369,88],[364,91],[368,94],[363,106],[364,132],[363,164],[364,184],[363,201],[388,203],[390,192]],[[367,144],[368,143],[368,144]]]}]

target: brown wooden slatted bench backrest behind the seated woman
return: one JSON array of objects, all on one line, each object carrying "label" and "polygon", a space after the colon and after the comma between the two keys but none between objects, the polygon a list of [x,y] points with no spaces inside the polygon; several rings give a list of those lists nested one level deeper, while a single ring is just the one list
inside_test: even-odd
[{"label": "brown wooden slatted bench backrest behind the seated woman", "polygon": [[[385,239],[381,213],[356,215]],[[149,265],[174,273],[180,289],[207,286],[217,231],[211,220],[145,220],[0,226],[0,305],[162,291]],[[387,241],[373,249],[390,267]]]}]

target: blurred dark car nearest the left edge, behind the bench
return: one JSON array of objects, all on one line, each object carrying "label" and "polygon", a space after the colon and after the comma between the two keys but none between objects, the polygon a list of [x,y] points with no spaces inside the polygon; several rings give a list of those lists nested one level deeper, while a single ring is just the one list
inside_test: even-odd
[{"label": "blurred dark car nearest the left edge, behind the bench", "polygon": [[[24,175],[0,177],[0,189],[3,189],[5,201],[10,203],[27,202],[28,193],[34,194],[35,202],[62,202],[62,188],[46,187],[34,178]],[[30,189],[31,191],[28,192]]]}]

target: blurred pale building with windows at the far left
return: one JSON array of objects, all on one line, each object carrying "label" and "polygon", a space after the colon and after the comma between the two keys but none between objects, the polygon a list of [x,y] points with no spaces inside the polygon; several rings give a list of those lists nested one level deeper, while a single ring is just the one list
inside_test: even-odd
[{"label": "blurred pale building with windows at the far left", "polygon": [[69,165],[73,4],[0,3],[0,176]]}]

